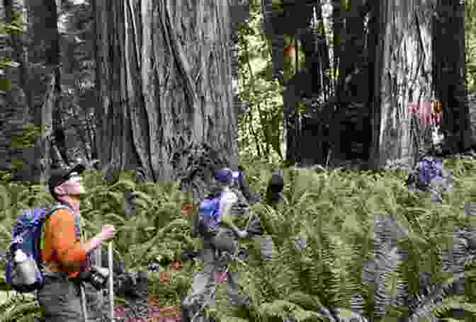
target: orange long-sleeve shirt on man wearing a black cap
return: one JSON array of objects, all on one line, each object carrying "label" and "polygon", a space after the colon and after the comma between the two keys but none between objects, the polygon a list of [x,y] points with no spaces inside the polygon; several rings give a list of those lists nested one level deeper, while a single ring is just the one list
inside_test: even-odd
[{"label": "orange long-sleeve shirt on man wearing a black cap", "polygon": [[42,259],[48,267],[55,261],[68,277],[77,277],[86,260],[86,251],[81,248],[81,238],[74,234],[74,216],[67,209],[59,209],[45,222],[45,248]]}]

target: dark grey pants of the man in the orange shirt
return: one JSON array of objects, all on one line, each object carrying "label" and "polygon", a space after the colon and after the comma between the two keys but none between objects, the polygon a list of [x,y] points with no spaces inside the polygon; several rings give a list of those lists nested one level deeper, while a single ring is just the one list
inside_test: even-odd
[{"label": "dark grey pants of the man in the orange shirt", "polygon": [[45,321],[84,322],[79,284],[69,281],[64,272],[46,272],[37,299]]}]

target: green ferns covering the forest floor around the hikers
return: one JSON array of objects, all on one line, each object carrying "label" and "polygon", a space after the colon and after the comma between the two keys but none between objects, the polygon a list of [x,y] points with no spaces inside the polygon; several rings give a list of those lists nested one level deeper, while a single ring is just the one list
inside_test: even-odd
[{"label": "green ferns covering the forest floor around the hikers", "polygon": [[[467,251],[463,252],[465,292],[454,290],[459,275],[442,272],[448,261],[445,250],[456,249],[455,227],[475,226],[465,214],[465,204],[476,203],[476,161],[448,159],[444,167],[454,171],[455,182],[454,192],[443,195],[441,205],[432,204],[428,194],[408,192],[404,186],[406,171],[285,170],[283,207],[251,208],[261,217],[266,236],[273,239],[272,260],[261,260],[256,238],[242,243],[250,250],[250,260],[233,263],[230,268],[239,272],[242,291],[251,297],[251,306],[227,306],[226,284],[220,284],[216,305],[207,308],[208,315],[227,322],[282,321],[280,316],[324,321],[336,316],[346,319],[352,310],[369,321],[396,316],[413,321],[417,314],[446,317],[445,312],[457,306],[464,307],[467,316],[476,314],[471,243],[465,244]],[[251,187],[264,194],[271,166],[250,162],[246,172]],[[50,203],[52,198],[38,185],[11,183],[7,176],[2,182],[0,248],[5,248],[18,212]],[[115,225],[114,256],[125,261],[127,270],[147,270],[152,258],[179,260],[181,250],[200,248],[200,240],[191,238],[191,217],[181,211],[191,198],[179,191],[178,183],[135,183],[131,175],[123,173],[117,183],[104,185],[99,173],[92,171],[85,173],[84,182],[88,190],[81,206],[85,229],[92,236],[104,224]],[[124,192],[137,194],[135,217],[125,214]],[[401,239],[398,248],[407,251],[405,256],[396,255],[396,241],[390,242],[395,231],[384,229],[382,233],[380,229],[376,234],[376,225],[383,222],[404,227],[408,238]],[[307,237],[304,251],[296,250],[296,236]],[[470,235],[466,237],[471,240]],[[149,272],[148,291],[154,304],[180,306],[181,297],[191,287],[193,272],[199,269],[200,262],[182,263],[181,270],[171,270],[170,281],[164,281],[164,271],[169,268]],[[0,270],[4,270],[3,265]],[[430,281],[424,292],[421,275]],[[0,276],[4,278],[3,271]],[[411,294],[419,294],[419,298]],[[13,314],[11,310],[24,302],[8,302],[9,306],[1,306],[0,311],[11,312],[8,316],[14,321],[21,315],[38,314],[33,304]],[[3,318],[0,321],[13,321]]]}]

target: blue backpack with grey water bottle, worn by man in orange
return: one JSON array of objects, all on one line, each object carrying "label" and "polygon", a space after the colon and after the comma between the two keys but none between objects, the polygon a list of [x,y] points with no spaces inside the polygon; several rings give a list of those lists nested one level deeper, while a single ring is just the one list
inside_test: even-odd
[{"label": "blue backpack with grey water bottle, worn by man in orange", "polygon": [[[11,243],[6,254],[6,282],[16,292],[30,293],[41,289],[45,265],[41,258],[40,242],[42,226],[51,214],[66,205],[47,205],[23,210],[11,229]],[[16,251],[20,250],[26,260],[16,263]],[[21,254],[19,254],[21,255]]]}]

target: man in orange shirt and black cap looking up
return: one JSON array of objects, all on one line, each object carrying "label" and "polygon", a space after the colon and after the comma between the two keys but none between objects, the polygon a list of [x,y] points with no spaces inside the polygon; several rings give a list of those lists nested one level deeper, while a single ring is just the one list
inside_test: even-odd
[{"label": "man in orange shirt and black cap looking up", "polygon": [[91,251],[115,234],[114,227],[106,225],[93,238],[82,238],[79,207],[85,193],[80,176],[84,170],[81,164],[70,170],[53,169],[48,180],[52,196],[67,206],[54,212],[44,226],[41,257],[45,261],[45,283],[37,297],[43,318],[49,322],[84,321],[79,274],[90,270]]}]

